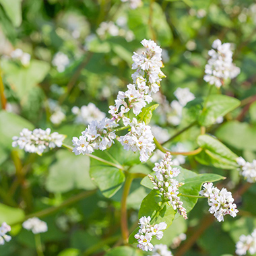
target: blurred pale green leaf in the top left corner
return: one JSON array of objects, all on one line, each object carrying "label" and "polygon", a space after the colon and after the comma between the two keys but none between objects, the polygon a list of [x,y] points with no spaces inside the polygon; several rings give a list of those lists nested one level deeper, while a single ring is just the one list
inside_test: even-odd
[{"label": "blurred pale green leaf in the top left corner", "polygon": [[22,0],[0,0],[0,3],[13,26],[20,26],[22,23]]}]

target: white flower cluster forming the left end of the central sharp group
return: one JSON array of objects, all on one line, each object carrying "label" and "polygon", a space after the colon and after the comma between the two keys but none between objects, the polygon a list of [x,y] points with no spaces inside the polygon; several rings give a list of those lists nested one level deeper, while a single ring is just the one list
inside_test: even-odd
[{"label": "white flower cluster forming the left end of the central sharp group", "polygon": [[82,131],[82,136],[79,138],[73,137],[73,152],[75,155],[92,154],[94,150],[106,150],[116,138],[115,130],[118,124],[108,118],[101,121],[92,121],[85,131]]}]

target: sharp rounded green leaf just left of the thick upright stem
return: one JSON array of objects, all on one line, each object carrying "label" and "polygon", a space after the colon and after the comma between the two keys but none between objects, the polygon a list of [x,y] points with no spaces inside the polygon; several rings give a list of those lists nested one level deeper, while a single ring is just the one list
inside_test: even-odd
[{"label": "sharp rounded green leaf just left of the thick upright stem", "polygon": [[122,170],[98,163],[91,166],[90,177],[105,197],[115,195],[125,181],[125,174]]}]

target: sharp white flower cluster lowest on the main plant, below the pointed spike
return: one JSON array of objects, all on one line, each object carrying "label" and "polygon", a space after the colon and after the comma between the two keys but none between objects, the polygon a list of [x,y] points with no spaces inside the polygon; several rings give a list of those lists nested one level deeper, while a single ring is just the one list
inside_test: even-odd
[{"label": "sharp white flower cluster lowest on the main plant, below the pointed spike", "polygon": [[165,222],[150,225],[150,220],[150,216],[141,217],[139,219],[139,231],[134,236],[139,243],[137,247],[143,251],[152,251],[154,246],[152,243],[150,243],[150,241],[152,240],[153,236],[156,236],[156,239],[158,240],[162,239],[162,236],[164,236],[162,230],[167,228],[167,224]]}]

